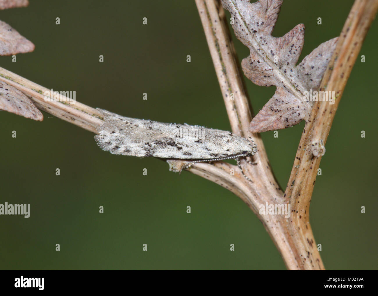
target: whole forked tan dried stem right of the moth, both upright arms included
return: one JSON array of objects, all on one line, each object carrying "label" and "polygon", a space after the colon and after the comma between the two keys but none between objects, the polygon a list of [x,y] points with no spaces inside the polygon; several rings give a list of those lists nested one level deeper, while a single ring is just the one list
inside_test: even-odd
[{"label": "whole forked tan dried stem right of the moth, both upright arms included", "polygon": [[[241,79],[242,74],[239,62],[237,61],[235,49],[229,37],[230,34],[223,8],[218,0],[195,0],[195,2],[222,90],[232,132],[241,136],[248,136],[248,129],[245,124],[247,121],[250,121],[251,111],[249,109],[246,90]],[[339,38],[338,47],[335,51],[339,53],[338,65],[333,68],[332,75],[326,73],[324,78],[331,77],[330,82],[333,81],[333,84],[332,87],[328,84],[327,90],[338,90],[336,92],[338,96],[341,96],[356,55],[375,15],[376,2],[376,0],[357,0],[347,19],[341,38]],[[369,14],[367,14],[367,9],[370,9]],[[364,18],[366,21],[362,21]],[[353,30],[348,34],[349,27],[353,27]],[[344,36],[344,34],[346,35]],[[352,37],[350,34],[354,34],[355,37]],[[353,42],[353,44],[349,51],[342,51],[341,49],[347,47],[350,42]],[[347,61],[349,62],[347,63]],[[340,81],[340,78],[344,81]],[[322,86],[326,84],[324,81]],[[234,101],[229,99],[231,92],[234,93]],[[320,109],[319,105],[322,106],[322,109]],[[311,164],[312,160],[310,158],[312,153],[310,149],[307,149],[306,164],[302,163],[299,169],[297,169],[297,165],[303,159],[304,143],[308,145],[307,139],[313,138],[312,131],[315,132],[315,135],[320,135],[320,139],[325,143],[338,102],[333,105],[332,109],[327,109],[327,106],[325,103],[321,104],[319,102],[314,105],[311,119],[305,127],[301,143],[299,144],[296,161],[294,162],[285,194],[280,191],[274,179],[273,172],[270,169],[263,143],[260,137],[255,134],[252,137],[259,147],[259,153],[253,157],[253,161],[257,164],[244,163],[244,169],[248,171],[247,175],[253,180],[253,183],[247,182],[240,173],[235,173],[235,176],[230,175],[231,169],[234,169],[235,172],[237,169],[235,166],[225,163],[217,163],[212,167],[209,164],[195,164],[190,169],[191,172],[229,189],[248,204],[263,222],[265,229],[270,234],[289,269],[324,269],[309,222],[312,183],[316,178],[316,169],[319,166],[320,158],[317,160],[317,166]],[[312,126],[311,129],[308,128],[309,124]],[[310,167],[312,171],[307,174]],[[290,204],[291,217],[285,218],[283,215],[260,215],[258,206],[265,204],[265,202],[269,204]]]}]

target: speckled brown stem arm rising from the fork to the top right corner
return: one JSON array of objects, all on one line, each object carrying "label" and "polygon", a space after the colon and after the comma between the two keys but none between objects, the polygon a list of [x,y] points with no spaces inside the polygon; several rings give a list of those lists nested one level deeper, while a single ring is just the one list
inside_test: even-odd
[{"label": "speckled brown stem arm rising from the fork to the top right corner", "polygon": [[355,1],[321,83],[321,90],[335,91],[335,104],[320,101],[314,104],[310,119],[305,124],[291,170],[285,194],[289,196],[291,209],[294,210],[291,216],[293,225],[298,227],[297,232],[293,233],[297,236],[297,242],[308,250],[316,248],[311,240],[313,234],[309,227],[309,208],[321,161],[321,156],[313,156],[311,147],[314,143],[322,141],[324,145],[327,141],[345,84],[377,8],[377,0]]}]

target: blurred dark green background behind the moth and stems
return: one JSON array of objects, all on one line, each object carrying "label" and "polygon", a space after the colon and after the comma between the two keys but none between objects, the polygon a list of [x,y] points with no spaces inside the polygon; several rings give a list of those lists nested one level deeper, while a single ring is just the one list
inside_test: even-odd
[{"label": "blurred dark green background behind the moth and stems", "polygon": [[[304,23],[301,61],[340,34],[352,3],[284,1],[273,35]],[[0,19],[36,45],[17,55],[17,63],[0,57],[9,71],[54,90],[76,90],[77,101],[127,117],[230,130],[194,0],[31,0],[28,8],[1,11]],[[241,60],[249,51],[232,36]],[[327,269],[377,268],[376,36],[375,21],[359,54],[366,63],[358,58],[353,68],[311,200],[310,221]],[[275,87],[246,85],[257,113]],[[0,216],[1,269],[285,269],[256,216],[223,187],[169,172],[154,158],[104,152],[93,133],[47,113],[42,122],[0,116],[0,203],[31,204],[30,218]],[[283,189],[303,126],[280,130],[278,138],[262,134]]]}]

